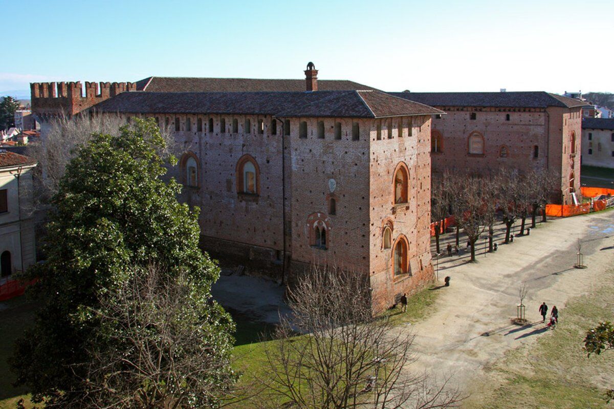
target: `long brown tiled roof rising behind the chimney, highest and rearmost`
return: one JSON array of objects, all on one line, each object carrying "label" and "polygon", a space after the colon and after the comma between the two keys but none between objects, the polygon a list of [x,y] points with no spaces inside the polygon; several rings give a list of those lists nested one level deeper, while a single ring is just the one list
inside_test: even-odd
[{"label": "long brown tiled roof rising behind the chimney, highest and rearmost", "polygon": [[[304,79],[147,77],[136,82],[147,92],[263,92],[305,91]],[[318,80],[319,91],[375,90],[348,80]]]}]

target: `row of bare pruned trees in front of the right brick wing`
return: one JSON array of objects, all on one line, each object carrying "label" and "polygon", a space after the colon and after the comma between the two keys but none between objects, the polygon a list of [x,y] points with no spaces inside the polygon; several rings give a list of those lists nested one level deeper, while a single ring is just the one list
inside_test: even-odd
[{"label": "row of bare pruned trees in front of the right brick wing", "polygon": [[444,220],[456,220],[456,245],[461,229],[467,235],[471,260],[475,261],[475,243],[487,232],[488,251],[494,247],[494,226],[505,224],[505,243],[511,228],[520,220],[520,234],[526,231],[527,219],[535,227],[538,214],[546,221],[546,203],[556,181],[543,170],[521,174],[517,170],[499,169],[489,174],[471,176],[445,171],[433,174],[431,187],[431,221],[435,224],[435,243],[440,253],[440,235]]}]

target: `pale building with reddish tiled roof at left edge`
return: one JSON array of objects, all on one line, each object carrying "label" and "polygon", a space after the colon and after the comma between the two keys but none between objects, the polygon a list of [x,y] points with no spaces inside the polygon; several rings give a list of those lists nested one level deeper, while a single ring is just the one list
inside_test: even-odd
[{"label": "pale building with reddish tiled roof at left edge", "polygon": [[32,208],[32,158],[0,150],[0,276],[36,262]]}]

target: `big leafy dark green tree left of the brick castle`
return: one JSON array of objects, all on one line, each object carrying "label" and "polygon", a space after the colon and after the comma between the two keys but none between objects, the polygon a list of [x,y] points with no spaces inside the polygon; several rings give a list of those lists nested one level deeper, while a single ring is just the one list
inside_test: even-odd
[{"label": "big leafy dark green tree left of the brick castle", "polygon": [[[66,166],[47,225],[47,260],[25,275],[39,278],[31,293],[41,308],[11,362],[17,383],[31,388],[35,402],[69,407],[83,393],[92,351],[99,351],[93,346],[130,348],[120,341],[122,328],[104,324],[99,311],[106,297],[150,265],[164,271],[161,279],[181,278],[188,287],[182,299],[193,304],[192,316],[181,325],[198,322],[208,362],[217,362],[215,376],[203,375],[215,378],[211,394],[179,407],[214,407],[235,380],[233,322],[211,300],[219,269],[198,247],[198,209],[177,202],[179,184],[161,180],[163,165],[176,163],[158,154],[163,145],[153,120],[136,119],[119,136],[93,135]],[[156,327],[150,332],[152,342],[159,339]]]}]

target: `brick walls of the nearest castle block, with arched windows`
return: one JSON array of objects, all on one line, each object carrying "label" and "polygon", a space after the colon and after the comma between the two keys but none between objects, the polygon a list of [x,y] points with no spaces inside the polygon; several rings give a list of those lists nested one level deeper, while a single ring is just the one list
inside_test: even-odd
[{"label": "brick walls of the nearest castle block, with arched windows", "polygon": [[[33,84],[33,96],[39,89]],[[63,109],[59,98],[46,95],[49,101],[33,98],[39,113]],[[82,99],[79,104],[87,105]],[[66,111],[74,114],[79,106]],[[200,207],[201,244],[214,257],[284,282],[313,263],[363,272],[371,279],[375,311],[432,280],[431,115],[278,119],[124,113],[168,123],[184,147],[168,176],[185,185],[182,201]],[[194,177],[188,174],[190,158],[197,164],[193,184],[187,182]],[[252,169],[246,170],[246,163],[255,173],[253,193],[246,191],[246,177],[252,177],[244,174]],[[395,203],[401,189],[395,184],[397,168],[406,174],[403,203]],[[405,252],[397,249],[402,257],[395,259],[395,245],[383,246],[386,223],[392,243],[406,243]],[[395,262],[402,264],[397,275]]]}]

